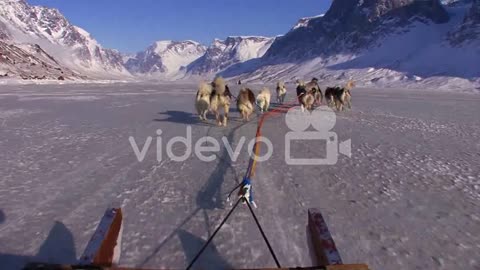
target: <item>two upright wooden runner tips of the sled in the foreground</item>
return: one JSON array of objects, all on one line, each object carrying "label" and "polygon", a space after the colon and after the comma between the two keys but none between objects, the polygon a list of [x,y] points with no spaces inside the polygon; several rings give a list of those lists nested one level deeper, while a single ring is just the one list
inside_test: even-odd
[{"label": "two upright wooden runner tips of the sled in the foreground", "polygon": [[[239,200],[240,201],[240,200]],[[247,202],[248,205],[250,205]],[[118,266],[122,239],[122,210],[108,209],[102,217],[77,265],[29,263],[24,270],[141,270]],[[368,270],[364,264],[342,264],[340,254],[322,214],[317,209],[308,210],[308,228],[318,266],[275,269],[298,270]],[[274,268],[264,268],[274,269]],[[252,269],[253,270],[253,269]],[[259,269],[260,270],[260,269]]]}]

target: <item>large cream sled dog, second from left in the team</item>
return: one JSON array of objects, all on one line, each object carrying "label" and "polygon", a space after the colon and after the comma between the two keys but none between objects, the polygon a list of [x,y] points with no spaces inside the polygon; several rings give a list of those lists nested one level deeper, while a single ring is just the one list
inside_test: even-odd
[{"label": "large cream sled dog, second from left in the team", "polygon": [[[213,91],[210,95],[210,110],[215,113],[217,125],[227,126],[228,112],[230,111],[231,94],[222,77],[217,77],[212,82]],[[223,118],[220,117],[220,109],[223,109]]]}]

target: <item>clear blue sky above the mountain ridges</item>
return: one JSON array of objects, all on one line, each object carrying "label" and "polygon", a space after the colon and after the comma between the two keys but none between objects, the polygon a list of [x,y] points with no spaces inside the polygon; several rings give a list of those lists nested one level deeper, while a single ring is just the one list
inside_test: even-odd
[{"label": "clear blue sky above the mountain ridges", "polygon": [[331,0],[27,0],[58,8],[104,47],[137,52],[156,40],[208,45],[229,35],[276,36]]}]

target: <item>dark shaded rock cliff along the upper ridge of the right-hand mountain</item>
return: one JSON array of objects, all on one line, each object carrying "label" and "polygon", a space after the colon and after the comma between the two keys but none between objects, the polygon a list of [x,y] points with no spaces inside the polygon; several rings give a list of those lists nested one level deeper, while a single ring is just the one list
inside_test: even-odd
[{"label": "dark shaded rock cliff along the upper ridge of the right-hand mountain", "polygon": [[325,16],[278,38],[265,59],[354,52],[414,20],[444,23],[449,16],[439,0],[334,0]]}]

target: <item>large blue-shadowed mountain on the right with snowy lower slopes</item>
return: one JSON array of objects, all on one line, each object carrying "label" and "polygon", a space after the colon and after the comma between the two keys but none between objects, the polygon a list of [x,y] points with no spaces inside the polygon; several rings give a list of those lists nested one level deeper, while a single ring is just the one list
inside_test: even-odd
[{"label": "large blue-shadowed mountain on the right with snowy lower slopes", "polygon": [[[264,57],[222,75],[245,81],[321,78],[325,84],[475,88],[480,85],[478,1],[335,0],[305,20]],[[452,34],[454,33],[454,34]],[[452,46],[451,37],[469,42]],[[460,38],[463,40],[463,38]]]}]

